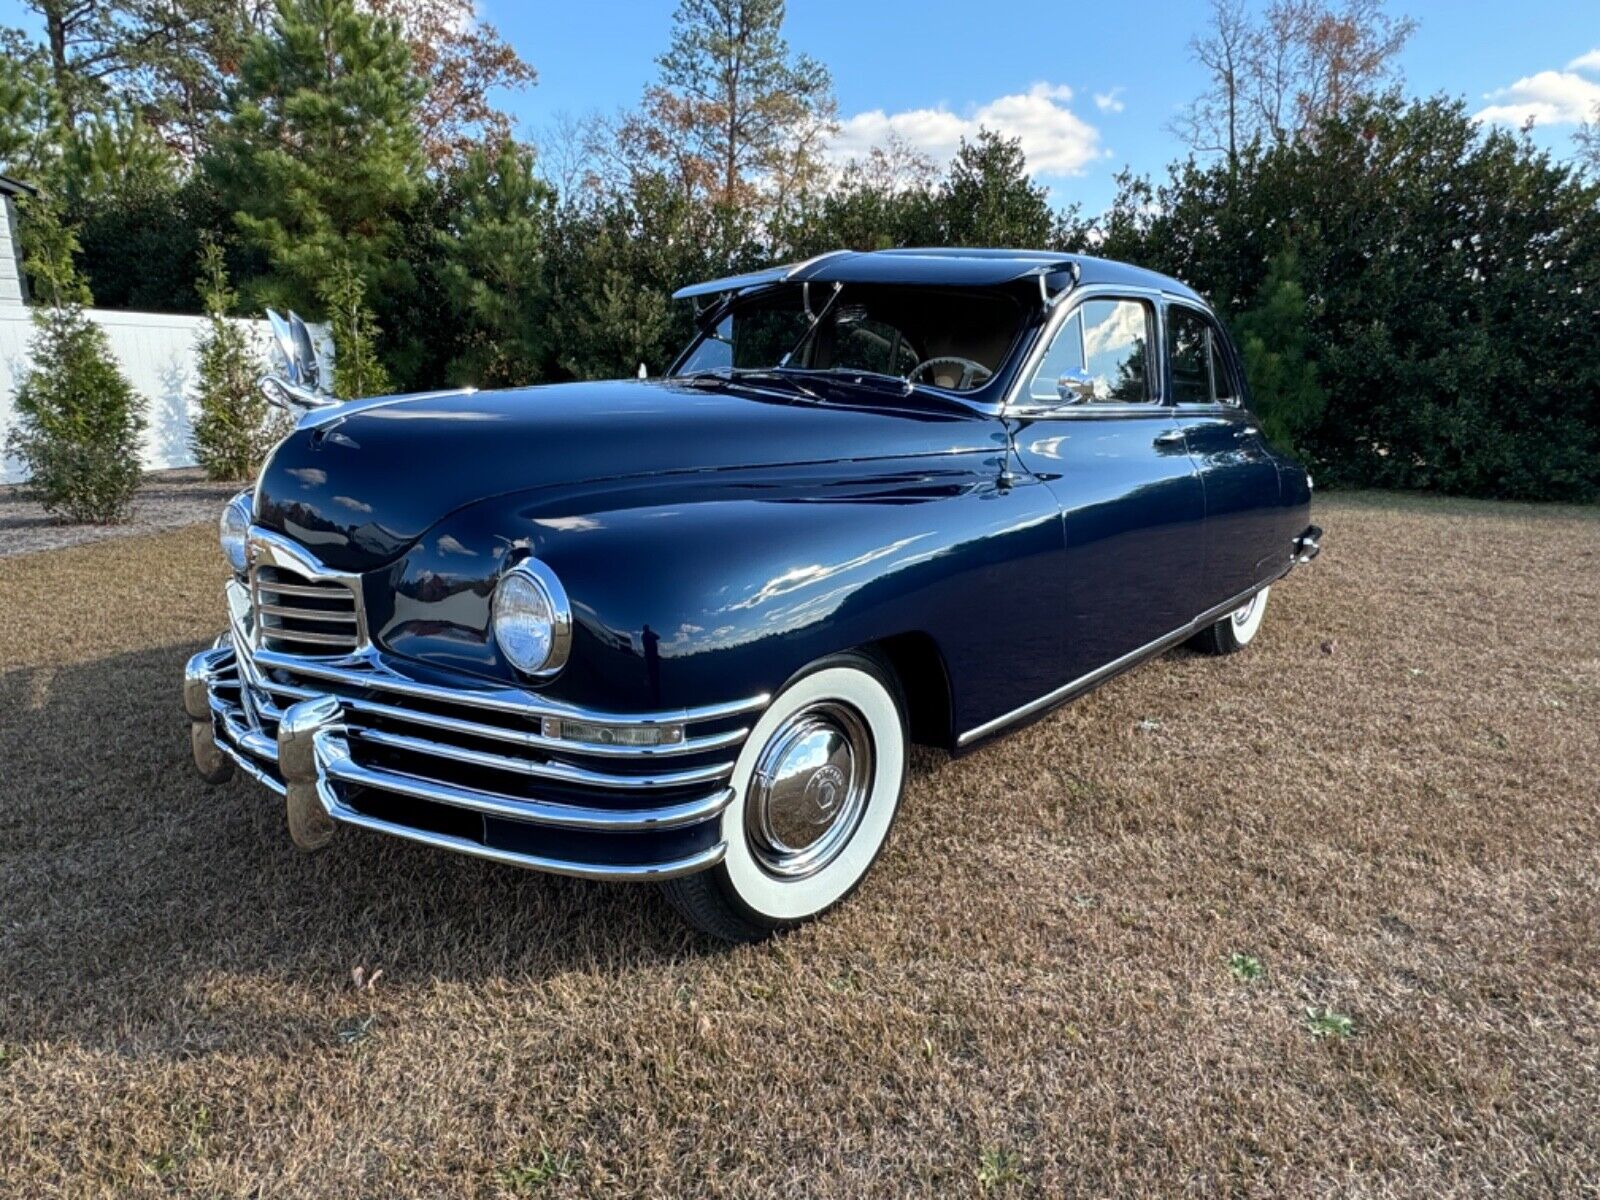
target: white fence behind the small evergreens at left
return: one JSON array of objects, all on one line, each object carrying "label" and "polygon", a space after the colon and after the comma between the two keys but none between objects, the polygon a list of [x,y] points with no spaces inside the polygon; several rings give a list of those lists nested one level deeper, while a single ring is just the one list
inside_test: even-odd
[{"label": "white fence behind the small evergreens at left", "polygon": [[[194,466],[189,434],[194,429],[195,413],[195,347],[205,331],[205,317],[102,309],[91,309],[90,317],[106,330],[106,341],[110,342],[123,374],[144,397],[146,429],[141,453],[144,467],[155,470]],[[264,320],[238,323],[250,330],[262,362],[269,362],[272,331],[267,323]],[[320,347],[326,347],[323,333],[312,326]],[[5,445],[5,435],[16,416],[11,397],[27,373],[27,346],[32,338],[34,322],[29,318],[29,309],[21,304],[0,304],[0,446]],[[16,483],[22,478],[22,464],[0,458],[0,483]]]}]

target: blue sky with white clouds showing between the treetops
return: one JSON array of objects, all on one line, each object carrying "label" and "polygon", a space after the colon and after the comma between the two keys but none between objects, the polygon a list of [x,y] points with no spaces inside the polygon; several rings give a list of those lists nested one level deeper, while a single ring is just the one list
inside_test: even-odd
[{"label": "blue sky with white clouds showing between the treetops", "polygon": [[[614,112],[654,77],[672,0],[478,0],[539,70],[507,98],[538,139],[558,114]],[[1160,171],[1181,152],[1165,131],[1200,77],[1187,42],[1202,0],[1138,5],[1011,0],[790,0],[792,46],[834,72],[845,138],[896,130],[936,157],[978,125],[1022,134],[1059,202],[1099,211],[1123,165]],[[1475,112],[1539,117],[1541,144],[1568,154],[1574,118],[1600,101],[1595,0],[1390,0],[1419,29],[1402,58],[1411,93],[1462,96]],[[37,27],[19,0],[0,24]]]}]

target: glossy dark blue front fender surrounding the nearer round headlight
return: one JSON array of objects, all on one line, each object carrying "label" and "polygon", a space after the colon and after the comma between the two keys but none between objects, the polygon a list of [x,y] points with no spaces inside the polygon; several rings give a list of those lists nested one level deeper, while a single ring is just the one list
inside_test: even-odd
[{"label": "glossy dark blue front fender surrounding the nearer round headlight", "polygon": [[[1059,662],[1061,523],[995,454],[717,472],[488,501],[390,568],[374,629],[390,651],[514,678],[490,635],[506,562],[544,560],[574,616],[541,691],[595,709],[715,704],[805,664],[923,632],[958,726],[1048,690]],[[382,603],[382,597],[378,597]]]}]

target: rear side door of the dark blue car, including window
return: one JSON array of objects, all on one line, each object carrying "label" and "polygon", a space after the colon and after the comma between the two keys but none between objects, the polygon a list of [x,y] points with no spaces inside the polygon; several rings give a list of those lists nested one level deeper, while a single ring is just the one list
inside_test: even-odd
[{"label": "rear side door of the dark blue car, including window", "polygon": [[1278,466],[1243,405],[1238,360],[1216,320],[1189,304],[1166,304],[1166,347],[1173,408],[1205,486],[1200,611],[1282,565]]}]

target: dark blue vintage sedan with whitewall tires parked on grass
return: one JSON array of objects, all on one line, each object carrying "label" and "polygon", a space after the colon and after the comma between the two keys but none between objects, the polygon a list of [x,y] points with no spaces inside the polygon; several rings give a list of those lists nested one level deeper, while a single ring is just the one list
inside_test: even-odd
[{"label": "dark blue vintage sedan with whitewall tires parked on grass", "polygon": [[299,421],[222,517],[229,630],[184,682],[206,779],[283,794],[307,848],[659,880],[754,939],[862,880],[910,742],[1242,650],[1317,552],[1309,475],[1171,278],[840,251],[678,296],[699,334],[661,379]]}]

